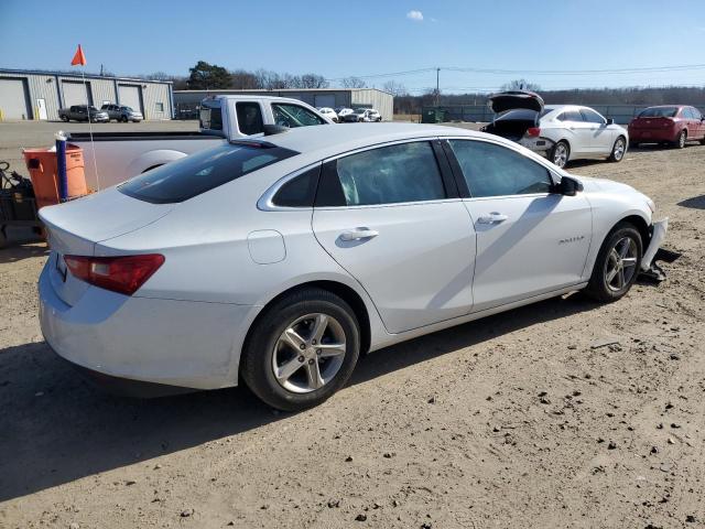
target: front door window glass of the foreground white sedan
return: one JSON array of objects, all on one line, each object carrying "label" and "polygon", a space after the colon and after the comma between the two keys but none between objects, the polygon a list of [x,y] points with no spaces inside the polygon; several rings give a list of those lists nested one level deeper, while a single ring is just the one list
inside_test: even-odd
[{"label": "front door window glass of the foreground white sedan", "polygon": [[473,197],[550,193],[549,170],[506,147],[473,140],[451,140]]}]

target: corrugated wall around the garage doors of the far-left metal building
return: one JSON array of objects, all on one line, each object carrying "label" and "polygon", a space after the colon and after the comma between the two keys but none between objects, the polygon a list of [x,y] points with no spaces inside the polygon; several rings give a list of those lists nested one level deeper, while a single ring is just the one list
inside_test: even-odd
[{"label": "corrugated wall around the garage doors of the far-left metal building", "polygon": [[[26,79],[29,89],[28,98],[31,104],[31,116],[28,119],[37,118],[37,99],[44,99],[46,104],[46,117],[50,120],[58,119],[58,109],[64,106],[63,95],[59,95],[63,80],[80,82],[77,76],[62,74],[0,72],[0,77]],[[142,90],[144,104],[144,119],[171,119],[172,100],[170,84],[141,80],[141,79],[113,79],[110,77],[86,77],[86,82],[93,94],[93,104],[100,108],[104,101],[118,102],[116,95],[116,80],[118,84],[139,85]]]}]

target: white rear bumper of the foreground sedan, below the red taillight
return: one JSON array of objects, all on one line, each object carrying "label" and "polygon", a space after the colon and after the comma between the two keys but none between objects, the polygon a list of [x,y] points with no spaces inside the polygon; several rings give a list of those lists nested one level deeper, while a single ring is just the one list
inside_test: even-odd
[{"label": "white rear bumper of the foreground sedan, below the red taillight", "polygon": [[237,385],[240,330],[254,307],[130,298],[96,287],[72,306],[57,295],[50,273],[47,264],[39,283],[42,334],[72,364],[180,388]]}]

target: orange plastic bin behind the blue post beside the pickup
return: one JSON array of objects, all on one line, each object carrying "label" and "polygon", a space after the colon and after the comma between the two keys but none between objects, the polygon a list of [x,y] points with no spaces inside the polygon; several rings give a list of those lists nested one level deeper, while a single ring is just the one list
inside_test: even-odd
[{"label": "orange plastic bin behind the blue post beside the pickup", "polygon": [[[24,163],[30,171],[37,209],[58,204],[58,175],[55,149],[24,149]],[[86,195],[84,151],[76,145],[66,145],[66,180],[68,198]]]}]

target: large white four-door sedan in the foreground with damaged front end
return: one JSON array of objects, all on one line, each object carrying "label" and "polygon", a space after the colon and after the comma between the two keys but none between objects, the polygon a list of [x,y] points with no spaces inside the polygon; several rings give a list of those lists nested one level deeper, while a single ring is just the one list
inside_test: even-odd
[{"label": "large white four-door sedan in the foreground with damaged front end", "polygon": [[243,380],[300,410],[368,350],[566,292],[620,299],[665,236],[653,212],[481,132],[292,129],[42,208],[41,328],[106,384]]}]

